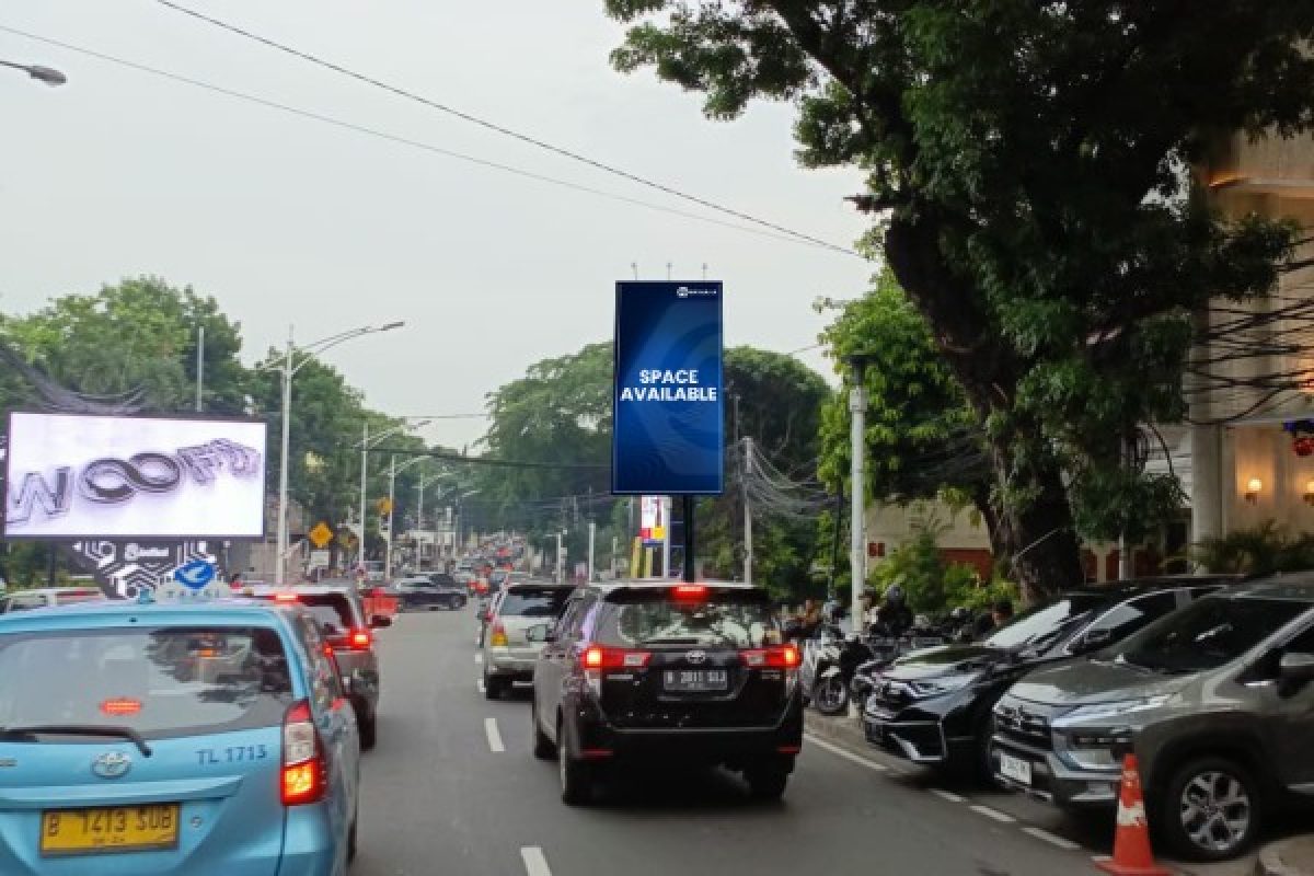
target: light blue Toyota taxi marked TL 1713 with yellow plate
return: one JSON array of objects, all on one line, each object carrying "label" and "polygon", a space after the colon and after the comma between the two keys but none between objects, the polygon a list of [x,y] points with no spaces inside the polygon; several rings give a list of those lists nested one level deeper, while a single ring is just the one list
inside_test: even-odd
[{"label": "light blue Toyota taxi marked TL 1713 with yellow plate", "polygon": [[344,876],[360,742],[296,605],[0,616],[0,873]]}]

